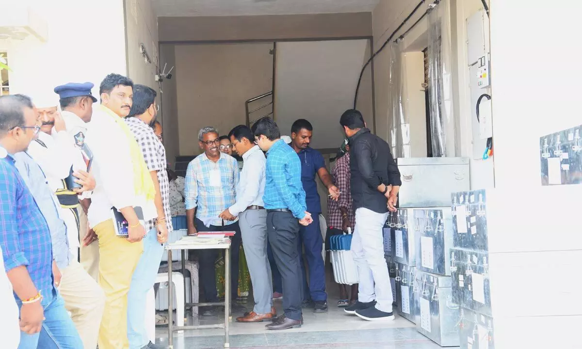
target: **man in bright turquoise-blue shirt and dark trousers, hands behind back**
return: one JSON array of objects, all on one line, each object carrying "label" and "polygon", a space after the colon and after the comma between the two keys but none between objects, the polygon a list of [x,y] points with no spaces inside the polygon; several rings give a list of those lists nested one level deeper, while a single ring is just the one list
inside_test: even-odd
[{"label": "man in bright turquoise-blue shirt and dark trousers, hands behind back", "polygon": [[296,152],[285,141],[277,124],[264,117],[253,124],[256,143],[267,151],[265,194],[267,235],[283,280],[283,310],[269,330],[301,327],[301,268],[297,254],[299,225],[313,223],[307,212],[305,191],[301,186],[301,164]]}]

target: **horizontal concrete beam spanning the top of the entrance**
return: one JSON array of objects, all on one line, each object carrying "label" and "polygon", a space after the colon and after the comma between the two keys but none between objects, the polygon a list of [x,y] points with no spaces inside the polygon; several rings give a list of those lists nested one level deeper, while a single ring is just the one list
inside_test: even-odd
[{"label": "horizontal concrete beam spanning the top of the entrance", "polygon": [[316,15],[159,17],[159,41],[368,37],[370,12]]}]

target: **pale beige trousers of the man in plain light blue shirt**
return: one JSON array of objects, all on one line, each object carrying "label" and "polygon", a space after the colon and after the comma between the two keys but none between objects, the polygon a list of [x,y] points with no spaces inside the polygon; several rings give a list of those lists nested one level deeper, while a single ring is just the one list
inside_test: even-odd
[{"label": "pale beige trousers of the man in plain light blue shirt", "polygon": [[79,262],[72,261],[62,270],[59,292],[83,341],[83,348],[95,349],[105,307],[103,290]]}]

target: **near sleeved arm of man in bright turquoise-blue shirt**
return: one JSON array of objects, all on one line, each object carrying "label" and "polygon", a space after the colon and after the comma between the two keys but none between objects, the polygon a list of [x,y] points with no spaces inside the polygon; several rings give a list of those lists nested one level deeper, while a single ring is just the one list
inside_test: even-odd
[{"label": "near sleeved arm of man in bright turquoise-blue shirt", "polygon": [[[293,156],[294,155],[294,156]],[[301,184],[301,162],[296,154],[287,156],[285,154],[272,154],[272,159],[267,161],[269,172],[272,173],[275,190],[283,200],[287,208],[297,219],[306,216],[307,205],[305,202],[305,191]],[[303,192],[303,202],[297,200],[295,193],[291,190]]]}]

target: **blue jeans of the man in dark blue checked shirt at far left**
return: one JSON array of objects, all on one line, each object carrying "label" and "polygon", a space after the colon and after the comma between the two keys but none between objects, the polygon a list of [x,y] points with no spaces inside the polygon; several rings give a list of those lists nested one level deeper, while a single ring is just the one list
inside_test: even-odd
[{"label": "blue jeans of the man in dark blue checked shirt at far left", "polygon": [[[65,309],[65,301],[59,294],[42,298],[44,318],[40,332],[20,332],[18,349],[79,349],[83,342],[74,327],[73,320]],[[19,308],[22,304],[19,304]]]}]

